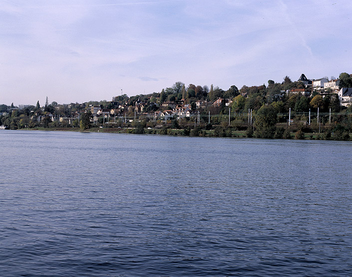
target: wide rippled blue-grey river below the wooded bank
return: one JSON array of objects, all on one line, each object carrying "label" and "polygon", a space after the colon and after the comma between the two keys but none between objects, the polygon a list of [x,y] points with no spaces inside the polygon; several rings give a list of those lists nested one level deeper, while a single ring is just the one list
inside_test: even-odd
[{"label": "wide rippled blue-grey river below the wooded bank", "polygon": [[351,276],[352,143],[0,131],[1,276]]}]

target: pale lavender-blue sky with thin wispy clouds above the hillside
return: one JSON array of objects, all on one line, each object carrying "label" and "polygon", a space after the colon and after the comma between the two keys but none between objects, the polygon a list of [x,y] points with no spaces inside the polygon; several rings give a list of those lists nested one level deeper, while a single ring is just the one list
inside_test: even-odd
[{"label": "pale lavender-blue sky with thin wispy clouds above the hillside", "polygon": [[352,73],[351,0],[0,0],[0,104]]}]

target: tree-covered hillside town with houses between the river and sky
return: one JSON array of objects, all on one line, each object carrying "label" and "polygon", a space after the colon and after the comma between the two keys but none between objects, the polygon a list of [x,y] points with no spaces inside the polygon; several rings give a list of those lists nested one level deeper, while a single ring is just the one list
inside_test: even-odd
[{"label": "tree-covered hillside town with houses between the river and sky", "polygon": [[204,136],[245,131],[246,136],[263,138],[300,132],[301,137],[319,133],[326,139],[339,139],[336,134],[350,139],[351,116],[352,74],[346,72],[319,79],[301,74],[297,81],[285,76],[282,82],[268,80],[241,89],[176,82],[158,93],[123,94],[111,101],[58,104],[46,97],[44,105],[0,105],[0,125],[7,129],[108,127],[138,133],[162,129],[166,134],[182,129],[182,134]]}]

